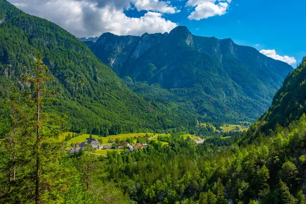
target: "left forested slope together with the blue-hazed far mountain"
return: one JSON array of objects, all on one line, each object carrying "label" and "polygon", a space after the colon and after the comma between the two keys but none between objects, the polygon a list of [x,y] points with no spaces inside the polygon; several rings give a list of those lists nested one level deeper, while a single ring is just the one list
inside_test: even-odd
[{"label": "left forested slope together with the blue-hazed far mountain", "polygon": [[28,88],[20,76],[33,72],[33,56],[40,52],[56,80],[49,86],[61,99],[48,107],[68,115],[75,132],[103,135],[184,129],[196,120],[216,126],[254,121],[293,70],[252,47],[194,36],[183,26],[142,36],[105,33],[94,42],[0,3],[1,97],[7,98],[13,86]]}]

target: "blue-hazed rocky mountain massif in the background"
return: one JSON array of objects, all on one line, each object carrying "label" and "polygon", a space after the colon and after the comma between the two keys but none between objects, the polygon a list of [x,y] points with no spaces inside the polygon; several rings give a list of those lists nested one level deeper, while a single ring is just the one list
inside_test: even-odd
[{"label": "blue-hazed rocky mountain massif in the background", "polygon": [[105,33],[90,48],[119,77],[159,84],[190,101],[199,114],[211,117],[255,118],[262,114],[293,70],[255,48],[237,45],[231,39],[194,36],[184,26],[169,34],[145,33],[141,37]]}]

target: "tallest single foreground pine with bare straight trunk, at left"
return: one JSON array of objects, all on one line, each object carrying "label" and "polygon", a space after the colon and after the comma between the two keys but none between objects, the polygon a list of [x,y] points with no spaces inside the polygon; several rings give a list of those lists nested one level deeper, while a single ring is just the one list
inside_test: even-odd
[{"label": "tallest single foreground pine with bare straight trunk, at left", "polygon": [[53,187],[57,183],[51,177],[60,171],[60,166],[56,163],[63,153],[62,145],[58,141],[63,119],[42,111],[44,103],[52,103],[56,99],[46,96],[47,94],[55,95],[54,91],[43,88],[46,82],[52,81],[54,78],[47,76],[46,72],[49,70],[42,62],[40,54],[36,56],[34,68],[36,71],[34,77],[27,74],[22,75],[22,81],[33,86],[32,92],[28,93],[29,97],[26,100],[29,110],[24,126],[24,137],[28,138],[29,141],[25,144],[29,146],[24,146],[24,148],[33,147],[33,152],[28,157],[30,161],[35,161],[33,169],[35,175],[34,199],[35,203],[40,203],[42,201],[41,194],[44,194],[43,199],[48,199],[48,194],[52,193]]}]

